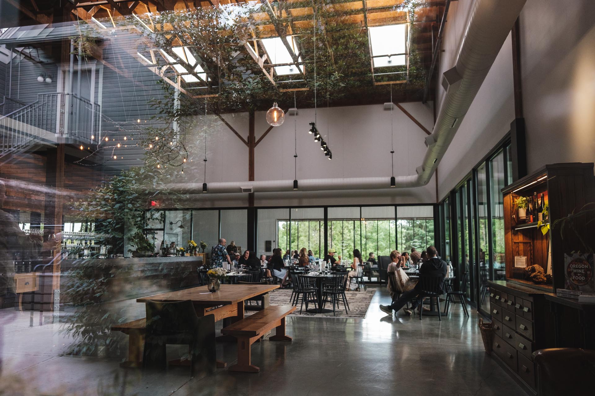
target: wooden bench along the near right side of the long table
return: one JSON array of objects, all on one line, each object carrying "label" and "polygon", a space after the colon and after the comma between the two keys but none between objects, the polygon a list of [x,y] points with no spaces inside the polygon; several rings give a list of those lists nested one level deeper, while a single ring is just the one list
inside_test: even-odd
[{"label": "wooden bench along the near right side of the long table", "polygon": [[292,337],[285,334],[285,316],[295,311],[295,306],[271,305],[221,329],[223,334],[237,338],[237,364],[230,366],[231,371],[258,373],[260,368],[250,363],[250,347],[252,344],[272,330],[277,328],[271,341],[291,341]]}]

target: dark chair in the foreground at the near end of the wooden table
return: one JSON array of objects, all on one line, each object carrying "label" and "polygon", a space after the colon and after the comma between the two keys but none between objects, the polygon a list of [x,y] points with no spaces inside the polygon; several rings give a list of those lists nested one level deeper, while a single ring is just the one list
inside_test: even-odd
[{"label": "dark chair in the foreground at the near end of the wooden table", "polygon": [[189,346],[190,376],[197,369],[214,372],[215,316],[196,316],[192,301],[146,302],[145,350],[143,368],[167,368],[167,344]]}]

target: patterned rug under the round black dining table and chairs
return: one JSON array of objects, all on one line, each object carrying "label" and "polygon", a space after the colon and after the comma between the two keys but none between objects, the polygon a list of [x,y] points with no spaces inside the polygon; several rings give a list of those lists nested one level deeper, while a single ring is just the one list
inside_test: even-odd
[{"label": "patterned rug under the round black dining table and chairs", "polygon": [[[374,297],[376,290],[362,290],[361,292],[345,292],[347,296],[347,304],[349,304],[349,311],[345,312],[343,302],[339,304],[339,309],[336,309],[336,316],[333,312],[330,313],[311,313],[306,312],[306,305],[303,305],[302,313],[299,313],[301,300],[297,304],[296,311],[293,311],[289,316],[314,316],[323,318],[365,318],[372,297]],[[291,289],[277,289],[270,292],[271,305],[291,305],[290,297],[292,295]],[[308,308],[314,308],[314,304],[308,304]],[[324,308],[333,309],[333,305],[328,302]]]}]

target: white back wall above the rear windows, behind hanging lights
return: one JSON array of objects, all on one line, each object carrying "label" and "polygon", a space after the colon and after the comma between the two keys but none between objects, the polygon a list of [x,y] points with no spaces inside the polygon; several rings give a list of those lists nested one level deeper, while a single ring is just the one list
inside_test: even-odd
[{"label": "white back wall above the rear windows, behind hanging lights", "polygon": [[[431,103],[403,103],[427,129],[433,125]],[[236,131],[248,138],[247,113],[223,115]],[[286,115],[281,126],[271,130],[255,148],[256,180],[293,180],[295,122],[297,124],[297,179],[358,178],[386,176],[390,182],[390,111],[383,105],[331,107],[318,109],[317,126],[333,153],[329,161],[308,134],[314,121],[314,109],[299,109],[297,117]],[[258,140],[267,130],[265,112],[255,115]],[[396,107],[393,110],[394,175],[415,175],[425,153],[425,132]],[[191,139],[193,137],[187,137]],[[201,139],[201,138],[196,138]],[[248,147],[226,125],[221,123],[209,132],[207,141],[206,182],[248,180]],[[192,163],[184,171],[184,180],[202,182],[203,148],[198,144],[190,154]],[[249,185],[249,183],[247,183]],[[198,194],[190,199],[193,207],[246,206],[247,194]],[[261,193],[255,204],[261,205],[332,205],[390,204],[436,202],[436,184],[414,189],[378,191],[326,191]]]}]

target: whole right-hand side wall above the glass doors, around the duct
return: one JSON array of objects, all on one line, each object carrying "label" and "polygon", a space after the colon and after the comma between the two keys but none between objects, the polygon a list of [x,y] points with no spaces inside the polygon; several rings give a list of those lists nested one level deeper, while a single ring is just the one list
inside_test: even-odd
[{"label": "whole right-hand side wall above the glass doors, around the duct", "polygon": [[[474,0],[450,4],[440,72],[455,64]],[[527,0],[520,17],[527,165],[595,160],[595,2]],[[437,88],[438,108],[444,91]],[[439,166],[444,198],[515,118],[509,36]]]}]

